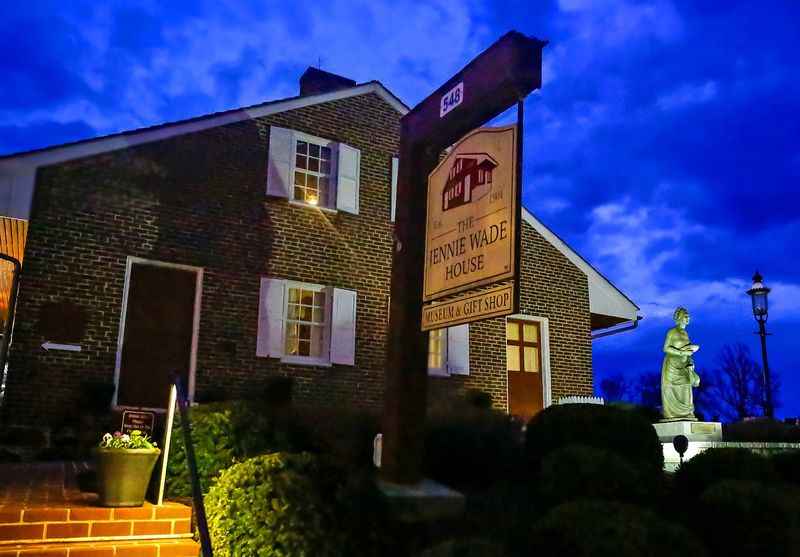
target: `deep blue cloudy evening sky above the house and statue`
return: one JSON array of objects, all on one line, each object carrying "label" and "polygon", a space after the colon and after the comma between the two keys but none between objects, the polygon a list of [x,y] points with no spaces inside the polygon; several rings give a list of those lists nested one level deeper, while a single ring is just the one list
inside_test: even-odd
[{"label": "deep blue cloudy evening sky above the house and statue", "polygon": [[697,363],[773,288],[779,415],[800,415],[800,6],[691,0],[5,2],[0,154],[297,94],[308,65],[414,105],[496,38],[550,41],[526,108],[524,200],[633,298],[597,375],[657,370],[676,305]]}]

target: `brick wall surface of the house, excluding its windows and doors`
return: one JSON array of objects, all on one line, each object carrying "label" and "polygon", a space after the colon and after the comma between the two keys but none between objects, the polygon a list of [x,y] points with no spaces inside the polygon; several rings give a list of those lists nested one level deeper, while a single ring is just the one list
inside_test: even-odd
[{"label": "brick wall surface of the house, excluding its windows and doors", "polygon": [[[267,198],[269,125],[361,150],[359,213]],[[196,393],[257,392],[295,378],[301,402],[380,408],[391,265],[390,158],[399,115],[374,94],[287,111],[41,169],[9,364],[4,417],[69,421],[85,381],[113,381],[128,256],[204,269]],[[523,242],[524,313],[550,319],[553,396],[591,394],[586,277],[533,229]],[[259,280],[358,292],[356,365],[257,358]],[[45,352],[48,302],[88,316],[83,351]],[[471,375],[433,380],[433,398],[480,388],[506,407],[502,319],[472,326]],[[437,394],[438,393],[438,394]]]}]

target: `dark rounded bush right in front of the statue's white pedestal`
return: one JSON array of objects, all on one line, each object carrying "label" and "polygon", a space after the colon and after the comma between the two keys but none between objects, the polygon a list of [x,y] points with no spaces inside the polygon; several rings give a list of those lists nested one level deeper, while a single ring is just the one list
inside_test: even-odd
[{"label": "dark rounded bush right in front of the statue's white pedestal", "polygon": [[747,449],[708,449],[684,462],[675,473],[675,490],[680,496],[698,497],[722,480],[778,479],[770,461]]}]

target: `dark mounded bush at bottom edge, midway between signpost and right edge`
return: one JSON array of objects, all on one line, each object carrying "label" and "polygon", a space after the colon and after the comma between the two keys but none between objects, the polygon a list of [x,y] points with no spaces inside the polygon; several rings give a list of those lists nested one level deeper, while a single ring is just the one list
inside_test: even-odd
[{"label": "dark mounded bush at bottom edge, midway between signpost and right edge", "polygon": [[550,511],[514,555],[536,557],[704,556],[703,546],[682,526],[633,505],[574,501]]}]

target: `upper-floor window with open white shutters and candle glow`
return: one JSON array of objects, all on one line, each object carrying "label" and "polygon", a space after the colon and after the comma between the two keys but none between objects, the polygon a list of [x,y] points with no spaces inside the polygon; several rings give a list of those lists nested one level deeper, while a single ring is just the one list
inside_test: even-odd
[{"label": "upper-floor window with open white shutters and candle glow", "polygon": [[267,195],[358,214],[361,151],[345,143],[272,126]]}]

